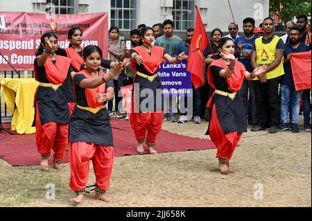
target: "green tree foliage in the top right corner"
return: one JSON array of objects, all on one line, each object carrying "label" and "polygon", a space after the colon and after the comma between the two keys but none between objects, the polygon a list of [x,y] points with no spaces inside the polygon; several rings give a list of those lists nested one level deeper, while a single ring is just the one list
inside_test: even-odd
[{"label": "green tree foliage in the top right corner", "polygon": [[279,15],[286,24],[296,15],[311,16],[311,0],[270,0],[270,11]]}]

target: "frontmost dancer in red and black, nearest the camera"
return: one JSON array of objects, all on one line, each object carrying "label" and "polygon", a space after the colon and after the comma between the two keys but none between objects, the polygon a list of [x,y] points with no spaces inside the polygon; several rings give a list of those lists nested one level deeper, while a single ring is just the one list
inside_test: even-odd
[{"label": "frontmost dancer in red and black, nearest the camera", "polygon": [[110,187],[110,176],[114,162],[114,148],[110,116],[106,108],[108,100],[114,98],[112,78],[123,69],[120,62],[110,73],[99,71],[102,51],[89,45],[83,50],[85,69],[73,76],[77,105],[71,115],[69,136],[69,164],[71,179],[69,186],[79,203],[86,193],[89,178],[89,163],[92,159],[96,176],[96,199],[112,200],[104,195]]}]

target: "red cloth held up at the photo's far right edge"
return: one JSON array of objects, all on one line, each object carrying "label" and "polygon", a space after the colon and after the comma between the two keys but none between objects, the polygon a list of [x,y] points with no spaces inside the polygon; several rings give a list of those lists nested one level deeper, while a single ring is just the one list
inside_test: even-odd
[{"label": "red cloth held up at the photo's far right edge", "polygon": [[296,91],[311,88],[311,51],[292,53],[291,70]]}]

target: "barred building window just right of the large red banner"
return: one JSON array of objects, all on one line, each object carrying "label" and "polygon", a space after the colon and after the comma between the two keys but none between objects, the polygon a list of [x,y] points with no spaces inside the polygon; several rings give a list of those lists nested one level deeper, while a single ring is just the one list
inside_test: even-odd
[{"label": "barred building window just right of the large red banner", "polygon": [[111,0],[110,26],[117,26],[121,30],[137,28],[137,1]]}]

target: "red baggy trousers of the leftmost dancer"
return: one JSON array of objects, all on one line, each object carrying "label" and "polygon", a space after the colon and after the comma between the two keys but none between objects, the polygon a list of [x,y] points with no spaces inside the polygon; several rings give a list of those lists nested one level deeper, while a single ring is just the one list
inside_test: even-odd
[{"label": "red baggy trousers of the leftmost dancer", "polygon": [[46,155],[53,150],[54,159],[63,159],[68,143],[68,125],[54,122],[41,125],[36,107],[35,127],[37,152]]}]

